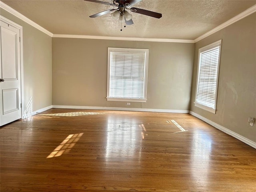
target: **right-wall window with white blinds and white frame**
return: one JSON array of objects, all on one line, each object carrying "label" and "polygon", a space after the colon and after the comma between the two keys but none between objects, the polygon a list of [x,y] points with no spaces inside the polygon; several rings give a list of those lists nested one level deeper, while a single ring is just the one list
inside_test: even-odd
[{"label": "right-wall window with white blinds and white frame", "polygon": [[216,113],[221,40],[199,49],[195,106]]}]

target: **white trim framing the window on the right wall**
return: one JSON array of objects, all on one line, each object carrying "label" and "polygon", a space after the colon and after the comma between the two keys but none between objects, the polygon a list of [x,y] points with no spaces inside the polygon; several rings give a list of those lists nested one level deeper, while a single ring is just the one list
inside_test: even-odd
[{"label": "white trim framing the window on the right wall", "polygon": [[[203,104],[200,104],[198,102],[196,102],[196,95],[197,95],[197,92],[198,92],[198,78],[199,78],[199,70],[200,70],[200,55],[201,55],[201,52],[205,52],[207,50],[210,50],[211,48],[214,48],[216,46],[220,46],[220,51],[219,51],[219,58],[218,58],[218,66],[217,66],[217,79],[216,79],[216,91],[215,91],[215,102],[214,102],[214,108],[210,108],[208,106],[205,106]],[[218,40],[212,44],[209,44],[209,45],[206,45],[202,48],[200,48],[198,50],[198,68],[197,68],[197,76],[196,76],[196,95],[195,95],[195,106],[198,107],[198,108],[201,108],[203,110],[206,110],[208,112],[211,112],[211,113],[214,113],[216,114],[216,106],[217,106],[217,96],[218,96],[218,82],[219,82],[219,71],[220,71],[220,56],[221,56],[221,48],[222,48],[222,39],[221,40]]]}]

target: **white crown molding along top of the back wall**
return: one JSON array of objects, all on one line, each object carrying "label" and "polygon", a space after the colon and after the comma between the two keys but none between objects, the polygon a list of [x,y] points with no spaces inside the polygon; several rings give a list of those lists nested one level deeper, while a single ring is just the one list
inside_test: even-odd
[{"label": "white crown molding along top of the back wall", "polygon": [[186,39],[158,39],[158,38],[137,38],[137,37],[110,37],[110,36],[91,36],[91,35],[66,35],[66,34],[54,34],[52,37],[56,37],[56,38],[122,40],[122,41],[194,43],[194,40],[186,40]]}]

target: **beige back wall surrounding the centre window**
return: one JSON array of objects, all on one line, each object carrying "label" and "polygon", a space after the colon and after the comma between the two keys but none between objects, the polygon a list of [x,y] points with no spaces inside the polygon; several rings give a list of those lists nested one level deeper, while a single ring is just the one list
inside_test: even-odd
[{"label": "beige back wall surrounding the centre window", "polygon": [[[147,102],[106,101],[108,47],[149,49]],[[53,38],[52,104],[189,110],[194,44]]]}]

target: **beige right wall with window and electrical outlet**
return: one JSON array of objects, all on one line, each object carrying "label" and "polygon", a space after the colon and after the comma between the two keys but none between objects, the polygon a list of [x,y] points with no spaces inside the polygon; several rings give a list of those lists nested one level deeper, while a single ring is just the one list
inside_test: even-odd
[{"label": "beige right wall with window and electrical outlet", "polygon": [[[217,112],[194,106],[198,49],[222,39]],[[256,142],[256,13],[196,43],[190,110]]]}]

